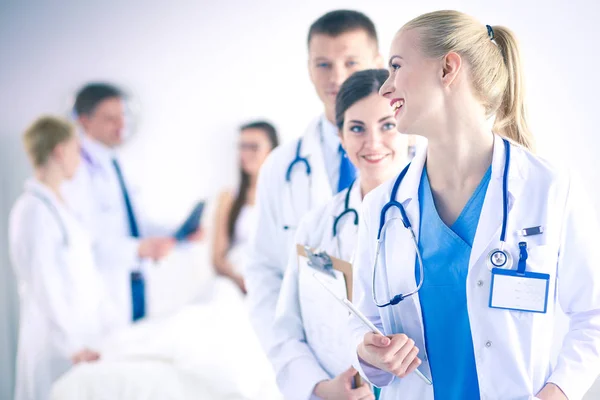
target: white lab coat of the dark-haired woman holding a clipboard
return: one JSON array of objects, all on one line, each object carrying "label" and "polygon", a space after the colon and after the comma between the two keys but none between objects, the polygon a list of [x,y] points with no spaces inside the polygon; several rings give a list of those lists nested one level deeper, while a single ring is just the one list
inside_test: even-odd
[{"label": "white lab coat of the dark-haired woman holding a clipboard", "polygon": [[[296,243],[351,262],[358,233],[353,213],[346,214],[340,220],[337,225],[338,237],[333,236],[333,222],[345,209],[347,191],[348,189],[338,193],[327,204],[313,209],[302,218],[296,233]],[[356,181],[350,192],[349,208],[360,212],[361,202],[360,182]],[[306,400],[311,398],[317,383],[341,374],[350,368],[353,359],[352,354],[348,352],[349,343],[343,341],[347,337],[344,332],[347,330],[348,311],[338,307],[336,300],[329,293],[325,293],[330,300],[327,304],[335,304],[331,307],[323,304],[322,310],[327,312],[330,321],[341,319],[344,322],[335,330],[325,329],[324,332],[320,329],[323,325],[321,321],[306,320],[305,313],[314,307],[310,304],[303,305],[302,301],[314,294],[310,289],[314,288],[314,285],[300,283],[302,279],[295,247],[294,245],[290,251],[289,265],[277,304],[275,332],[282,342],[272,349],[269,358],[275,367],[277,383],[285,398]],[[310,274],[308,271],[302,272]],[[314,278],[309,276],[307,279]],[[320,313],[318,314],[310,315],[318,319]],[[335,319],[334,314],[337,314]]]}]

